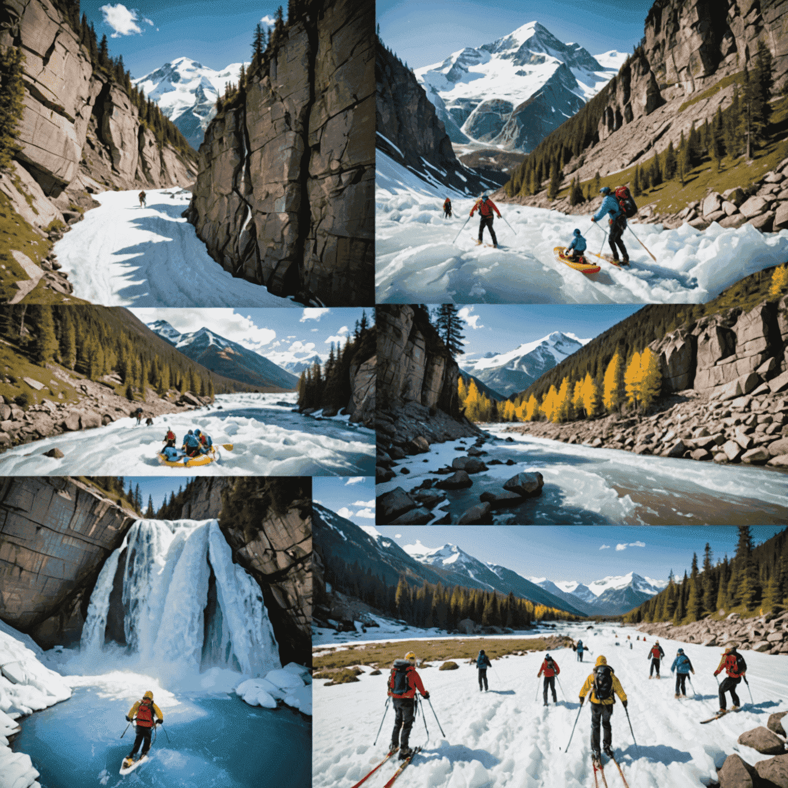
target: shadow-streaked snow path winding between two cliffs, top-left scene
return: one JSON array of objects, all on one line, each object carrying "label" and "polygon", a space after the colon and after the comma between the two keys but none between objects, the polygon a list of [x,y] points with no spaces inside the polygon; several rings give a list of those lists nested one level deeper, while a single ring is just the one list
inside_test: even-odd
[{"label": "shadow-streaked snow path winding between two cliffs, top-left scene", "polygon": [[180,189],[104,191],[54,245],[74,296],[106,307],[300,307],[265,287],[233,277],[208,255],[180,216],[190,195]]}]

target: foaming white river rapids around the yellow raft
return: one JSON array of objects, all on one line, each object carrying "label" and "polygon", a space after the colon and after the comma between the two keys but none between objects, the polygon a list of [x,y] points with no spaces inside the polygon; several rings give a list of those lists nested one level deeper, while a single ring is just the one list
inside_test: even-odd
[{"label": "foaming white river rapids around the yellow raft", "polygon": [[[280,402],[292,405],[277,405]],[[136,418],[119,418],[105,427],[17,446],[0,455],[0,474],[362,476],[373,472],[374,430],[349,424],[348,416],[318,422],[292,413],[295,405],[292,393],[220,394],[212,406],[157,416],[151,427],[137,426]],[[221,460],[199,467],[160,465],[157,454],[168,427],[179,441],[189,429],[203,429]],[[232,452],[222,448],[225,443],[233,444]],[[63,452],[61,459],[43,455],[54,447]]]}]

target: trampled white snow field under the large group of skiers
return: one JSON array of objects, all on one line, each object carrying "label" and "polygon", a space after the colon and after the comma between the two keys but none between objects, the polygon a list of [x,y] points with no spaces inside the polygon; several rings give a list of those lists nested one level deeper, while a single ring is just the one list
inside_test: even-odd
[{"label": "trampled white snow field under the large group of skiers", "polygon": [[[556,682],[559,703],[553,705],[550,698],[548,708],[542,705],[541,679],[537,679],[545,652],[492,660],[487,693],[478,691],[476,668],[463,662],[457,671],[438,671],[437,663],[419,671],[446,737],[440,735],[433,712],[425,704],[429,740],[426,741],[425,723],[419,714],[411,733],[411,745],[423,744],[424,750],[397,779],[396,785],[408,788],[593,786],[589,703],[580,713],[568,753],[563,749],[578,716],[578,692],[599,654],[608,658],[629,700],[637,748],[618,700],[611,723],[616,760],[631,788],[701,788],[716,781],[716,770],[731,753],[738,753],[749,764],[771,757],[738,745],[737,740],[745,730],[765,725],[771,713],[785,711],[782,698],[788,692],[788,659],[744,652],[755,704],[749,703],[749,692],[742,683],[738,687],[742,711],[701,726],[701,719],[708,719],[719,708],[712,675],[719,664],[719,647],[661,638],[665,650],[663,678],[649,681],[648,647],[642,640],[634,641],[631,650],[624,645],[626,635],[634,640],[639,635],[637,630],[621,627],[615,630],[619,634],[616,638],[609,626],[598,627],[596,635],[585,626],[558,626],[558,630],[567,631],[574,638],[582,637],[587,647],[593,649],[593,655],[581,664],[569,649],[552,652],[561,669]],[[418,631],[411,630],[409,634]],[[532,635],[520,633],[516,637],[523,636]],[[654,640],[649,637],[649,645]],[[616,642],[622,645],[616,646]],[[670,666],[678,648],[683,648],[693,663],[696,675],[690,678],[699,693],[693,699],[687,682],[686,701],[673,697],[675,679]],[[315,684],[318,712],[314,717],[314,788],[350,788],[385,756],[393,724],[390,710],[377,746],[373,747],[372,741],[381,724],[388,671],[370,676],[368,668],[362,670],[365,675],[358,684],[333,687],[324,687],[324,682]],[[537,685],[539,694],[535,701]],[[562,689],[567,693],[566,700]],[[728,705],[730,708],[730,695]],[[608,759],[603,756],[603,760]],[[380,770],[382,774],[370,779],[370,788],[380,788],[396,771],[396,765],[385,764]],[[605,766],[605,776],[611,788],[622,785],[612,762]]]}]

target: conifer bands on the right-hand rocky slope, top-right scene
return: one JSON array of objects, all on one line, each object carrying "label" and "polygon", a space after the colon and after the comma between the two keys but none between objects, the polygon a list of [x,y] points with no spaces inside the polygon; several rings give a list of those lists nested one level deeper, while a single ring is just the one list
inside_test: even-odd
[{"label": "conifer bands on the right-hand rocky slope, top-right scene", "polygon": [[[511,180],[504,186],[509,197],[535,195],[548,180],[548,196],[556,198],[563,180],[563,166],[573,160],[577,160],[578,166],[582,165],[583,151],[599,142],[598,126],[608,97],[615,95],[618,80],[629,83],[632,64],[637,58],[645,58],[642,46],[635,48],[634,54],[619,69],[618,76],[578,113],[546,136],[512,171]],[[637,165],[630,179],[634,197],[667,180],[678,180],[684,186],[690,171],[709,159],[716,163],[717,172],[723,167],[725,158],[730,161],[741,156],[752,159],[756,151],[768,143],[774,67],[764,40],[758,42],[749,68],[745,65],[742,72],[727,79],[734,81],[730,105],[725,110],[718,107],[716,114],[706,118],[700,128],[695,128],[693,122],[687,136],[682,132],[678,148],[671,140],[661,154],[657,154],[655,148],[648,162]],[[598,191],[599,173],[595,179],[589,180],[585,194],[579,177],[575,177],[571,182],[570,202],[577,205],[593,199]]]}]

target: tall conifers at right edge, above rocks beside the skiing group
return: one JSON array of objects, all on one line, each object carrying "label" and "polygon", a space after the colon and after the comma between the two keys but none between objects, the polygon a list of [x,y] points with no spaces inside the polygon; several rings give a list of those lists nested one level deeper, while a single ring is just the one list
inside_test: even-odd
[{"label": "tall conifers at right edge, above rocks beside the skiing group", "polygon": [[779,612],[788,599],[788,528],[753,548],[749,526],[738,526],[736,555],[714,563],[706,543],[703,566],[693,553],[689,574],[678,582],[671,570],[667,588],[623,616],[626,623],[672,621],[676,626],[732,608]]}]

